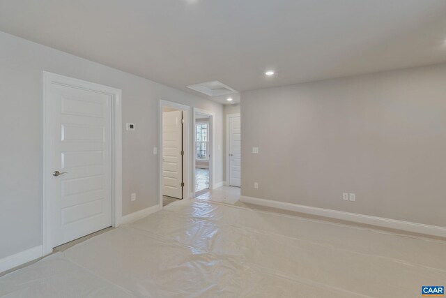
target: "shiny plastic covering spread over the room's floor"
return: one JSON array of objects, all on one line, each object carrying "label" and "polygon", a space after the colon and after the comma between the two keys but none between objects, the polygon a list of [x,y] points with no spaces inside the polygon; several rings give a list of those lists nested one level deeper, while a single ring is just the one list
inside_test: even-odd
[{"label": "shiny plastic covering spread over the room's floor", "polygon": [[0,278],[0,297],[421,297],[446,242],[187,200]]}]

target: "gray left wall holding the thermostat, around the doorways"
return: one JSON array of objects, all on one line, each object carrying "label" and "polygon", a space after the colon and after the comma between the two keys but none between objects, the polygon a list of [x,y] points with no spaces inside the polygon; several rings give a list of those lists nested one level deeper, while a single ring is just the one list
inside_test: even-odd
[{"label": "gray left wall holding the thermostat, around the doorways", "polygon": [[[122,89],[123,123],[136,125],[123,128],[123,215],[158,204],[160,99],[215,112],[224,144],[222,105],[0,32],[0,259],[42,244],[43,70]],[[222,150],[216,164],[219,182]]]}]

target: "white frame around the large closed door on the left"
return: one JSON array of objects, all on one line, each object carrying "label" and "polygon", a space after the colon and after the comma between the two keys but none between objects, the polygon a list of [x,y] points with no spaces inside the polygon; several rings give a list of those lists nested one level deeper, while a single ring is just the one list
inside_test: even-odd
[{"label": "white frame around the large closed door on the left", "polygon": [[107,94],[112,96],[112,225],[114,228],[121,223],[122,216],[122,91],[112,87],[107,87],[101,84],[95,84],[84,80],[78,80],[64,75],[57,75],[55,73],[48,73],[43,71],[43,109],[42,109],[42,169],[43,169],[43,187],[42,187],[42,234],[43,234],[43,248],[42,255],[52,253],[52,214],[51,214],[51,200],[49,193],[47,193],[47,174],[49,169],[47,167],[46,151],[49,146],[47,137],[47,89],[50,84],[61,84],[70,87],[75,87],[83,90],[95,91],[100,94]]}]

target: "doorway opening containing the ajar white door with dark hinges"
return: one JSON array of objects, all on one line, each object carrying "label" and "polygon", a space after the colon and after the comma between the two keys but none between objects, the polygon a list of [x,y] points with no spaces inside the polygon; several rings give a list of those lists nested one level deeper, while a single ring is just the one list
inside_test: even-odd
[{"label": "doorway opening containing the ajar white door with dark hinges", "polygon": [[189,107],[160,101],[160,206],[188,198]]}]

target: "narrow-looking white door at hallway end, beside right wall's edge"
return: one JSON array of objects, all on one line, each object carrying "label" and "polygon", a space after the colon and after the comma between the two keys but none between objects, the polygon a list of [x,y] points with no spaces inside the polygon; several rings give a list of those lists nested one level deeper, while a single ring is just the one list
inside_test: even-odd
[{"label": "narrow-looking white door at hallway end, beside right wall's edge", "polygon": [[241,132],[240,116],[229,117],[229,185],[240,187]]}]

